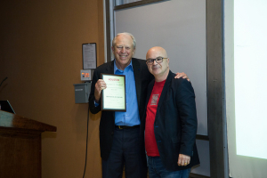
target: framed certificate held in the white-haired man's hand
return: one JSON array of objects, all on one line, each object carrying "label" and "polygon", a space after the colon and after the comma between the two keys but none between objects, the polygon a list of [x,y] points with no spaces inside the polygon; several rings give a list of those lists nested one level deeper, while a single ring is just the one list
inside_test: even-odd
[{"label": "framed certificate held in the white-haired man's hand", "polygon": [[109,111],[126,111],[125,76],[101,74],[107,88],[101,92],[101,109]]}]

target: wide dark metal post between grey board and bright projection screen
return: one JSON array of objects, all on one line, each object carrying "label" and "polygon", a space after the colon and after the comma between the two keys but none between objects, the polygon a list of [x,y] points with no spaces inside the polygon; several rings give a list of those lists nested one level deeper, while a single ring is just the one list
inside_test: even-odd
[{"label": "wide dark metal post between grey board and bright projection screen", "polygon": [[229,175],[225,143],[223,0],[206,0],[206,61],[210,175],[226,178]]}]

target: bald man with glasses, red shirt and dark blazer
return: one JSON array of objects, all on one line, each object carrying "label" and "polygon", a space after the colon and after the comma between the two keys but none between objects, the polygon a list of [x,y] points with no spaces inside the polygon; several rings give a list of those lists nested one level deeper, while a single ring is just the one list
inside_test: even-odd
[{"label": "bald man with glasses, red shirt and dark blazer", "polygon": [[174,79],[169,61],[166,50],[159,46],[146,55],[155,77],[148,86],[141,123],[150,178],[188,178],[191,167],[199,164],[195,93],[189,81]]}]

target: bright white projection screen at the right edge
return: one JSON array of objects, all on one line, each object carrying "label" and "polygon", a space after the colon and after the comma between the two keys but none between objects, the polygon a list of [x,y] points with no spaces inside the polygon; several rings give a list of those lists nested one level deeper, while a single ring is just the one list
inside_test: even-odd
[{"label": "bright white projection screen at the right edge", "polygon": [[224,1],[230,177],[267,177],[267,1]]}]

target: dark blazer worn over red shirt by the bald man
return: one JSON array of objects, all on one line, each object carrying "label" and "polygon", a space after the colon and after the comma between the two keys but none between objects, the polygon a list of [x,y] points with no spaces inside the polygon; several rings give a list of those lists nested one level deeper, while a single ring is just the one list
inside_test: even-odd
[{"label": "dark blazer worn over red shirt by the bald man", "polygon": [[[198,128],[195,93],[192,85],[186,79],[174,79],[171,71],[158,101],[154,132],[158,151],[163,165],[169,171],[178,171],[199,164],[196,147]],[[146,106],[150,99],[155,80],[150,82]],[[141,128],[145,128],[145,117]],[[143,138],[143,136],[142,136]],[[190,156],[188,166],[178,166],[178,156]]]}]

